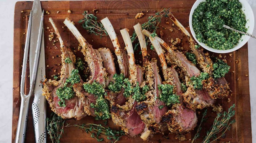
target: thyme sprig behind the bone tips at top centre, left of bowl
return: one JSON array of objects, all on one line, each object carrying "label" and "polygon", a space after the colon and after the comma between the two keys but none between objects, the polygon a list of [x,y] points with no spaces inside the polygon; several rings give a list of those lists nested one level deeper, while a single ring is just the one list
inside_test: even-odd
[{"label": "thyme sprig behind the bone tips at top centre, left of bowl", "polygon": [[[142,30],[146,29],[147,31],[154,33],[154,35],[156,35],[155,33],[157,31],[158,25],[161,22],[162,17],[168,17],[169,10],[170,8],[163,9],[162,11],[157,12],[155,16],[149,16],[148,21],[141,24]],[[135,31],[133,32],[131,40],[132,40],[132,43],[135,43],[134,51],[137,51],[139,47],[139,40],[137,38]],[[146,45],[148,45],[148,41],[149,41],[148,37],[146,37],[145,40],[146,40]]]}]

